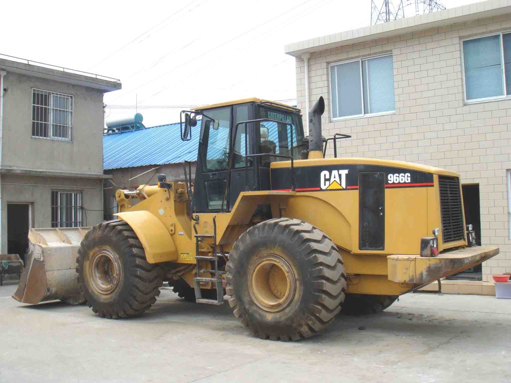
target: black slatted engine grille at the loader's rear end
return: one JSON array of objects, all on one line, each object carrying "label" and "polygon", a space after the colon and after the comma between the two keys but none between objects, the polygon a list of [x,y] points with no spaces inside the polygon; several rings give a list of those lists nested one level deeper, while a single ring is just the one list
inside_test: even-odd
[{"label": "black slatted engine grille at the loader's rear end", "polygon": [[459,179],[457,177],[438,176],[438,187],[440,189],[443,242],[463,240],[465,228],[463,225],[463,211],[461,210]]}]

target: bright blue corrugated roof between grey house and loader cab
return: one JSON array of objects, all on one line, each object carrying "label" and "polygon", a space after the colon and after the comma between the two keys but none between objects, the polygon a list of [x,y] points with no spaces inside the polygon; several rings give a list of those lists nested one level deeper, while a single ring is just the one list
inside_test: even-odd
[{"label": "bright blue corrugated roof between grey house and loader cab", "polygon": [[103,136],[103,168],[164,165],[196,161],[201,121],[192,128],[192,139],[182,141],[179,123]]}]

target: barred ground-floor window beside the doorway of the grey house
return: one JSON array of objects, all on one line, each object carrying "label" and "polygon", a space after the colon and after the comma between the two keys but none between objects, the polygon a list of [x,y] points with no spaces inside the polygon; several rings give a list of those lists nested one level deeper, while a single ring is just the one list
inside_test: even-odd
[{"label": "barred ground-floor window beside the doorway of the grey house", "polygon": [[82,192],[52,190],[52,227],[82,225]]}]

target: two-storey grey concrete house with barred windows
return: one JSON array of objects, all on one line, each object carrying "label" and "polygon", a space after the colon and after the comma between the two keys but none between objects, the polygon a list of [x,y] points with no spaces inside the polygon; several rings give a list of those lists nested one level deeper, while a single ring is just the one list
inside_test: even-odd
[{"label": "two-storey grey concrete house with barred windows", "polygon": [[0,242],[27,247],[31,227],[103,219],[103,94],[119,80],[0,58]]}]

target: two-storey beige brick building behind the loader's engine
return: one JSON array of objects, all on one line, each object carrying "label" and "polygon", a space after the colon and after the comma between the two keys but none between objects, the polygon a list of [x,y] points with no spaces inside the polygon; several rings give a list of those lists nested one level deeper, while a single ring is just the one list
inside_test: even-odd
[{"label": "two-storey beige brick building behind the loader's engine", "polygon": [[511,1],[399,19],[285,50],[296,57],[298,107],[305,111],[322,95],[324,135],[352,135],[338,155],[461,175],[467,223],[500,254],[443,290],[493,294],[491,275],[511,272]]}]

